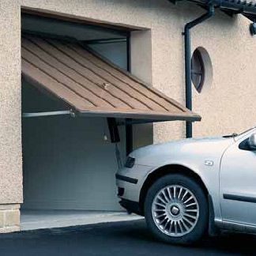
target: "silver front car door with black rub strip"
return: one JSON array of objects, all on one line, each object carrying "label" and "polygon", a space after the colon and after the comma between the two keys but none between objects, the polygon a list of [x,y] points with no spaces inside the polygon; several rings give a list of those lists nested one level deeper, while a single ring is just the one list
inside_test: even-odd
[{"label": "silver front car door with black rub strip", "polygon": [[220,164],[220,207],[223,220],[256,225],[256,151],[249,134],[230,146]]}]

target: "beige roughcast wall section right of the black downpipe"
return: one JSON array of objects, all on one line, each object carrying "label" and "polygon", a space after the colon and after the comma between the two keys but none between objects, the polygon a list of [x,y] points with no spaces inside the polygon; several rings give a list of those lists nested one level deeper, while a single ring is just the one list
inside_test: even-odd
[{"label": "beige roughcast wall section right of the black downpipe", "polygon": [[194,136],[239,133],[255,125],[256,42],[249,24],[242,16],[217,13],[207,27],[194,28],[193,47],[205,47],[213,65],[212,86],[193,91],[194,111],[202,116]]}]

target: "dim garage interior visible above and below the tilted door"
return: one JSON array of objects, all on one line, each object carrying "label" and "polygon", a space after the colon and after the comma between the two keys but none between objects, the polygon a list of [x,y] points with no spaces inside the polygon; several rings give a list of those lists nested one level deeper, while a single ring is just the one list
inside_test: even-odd
[{"label": "dim garage interior visible above and below the tilted door", "polygon": [[[127,32],[22,13],[22,34],[79,40],[127,70]],[[22,112],[69,111],[63,100],[22,79]],[[125,126],[119,127],[126,137]],[[115,144],[107,118],[52,115],[22,119],[21,229],[123,219],[115,188]],[[126,156],[126,140],[119,143]],[[103,218],[104,216],[104,218]]]}]

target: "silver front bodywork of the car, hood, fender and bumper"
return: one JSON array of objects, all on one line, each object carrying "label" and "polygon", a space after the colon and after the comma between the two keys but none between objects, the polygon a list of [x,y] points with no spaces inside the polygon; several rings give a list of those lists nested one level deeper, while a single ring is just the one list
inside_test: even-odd
[{"label": "silver front bodywork of the car, hood, fender and bumper", "polygon": [[[220,219],[220,159],[224,150],[234,142],[233,137],[193,138],[137,149],[130,153],[130,156],[135,158],[134,168],[119,170],[120,175],[138,179],[137,184],[127,184],[117,180],[118,186],[125,186],[122,198],[138,202],[141,187],[153,171],[167,165],[181,165],[201,177],[213,198],[215,217]],[[209,144],[211,147],[208,146]],[[205,161],[211,161],[213,165],[205,165]]]}]

